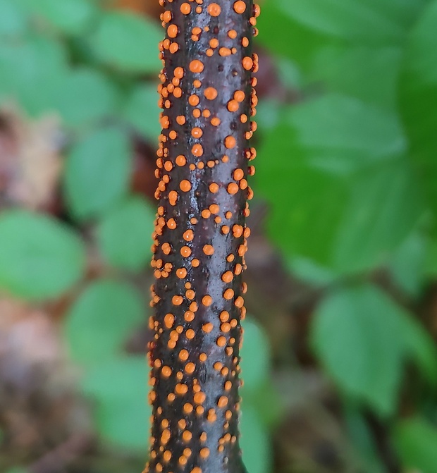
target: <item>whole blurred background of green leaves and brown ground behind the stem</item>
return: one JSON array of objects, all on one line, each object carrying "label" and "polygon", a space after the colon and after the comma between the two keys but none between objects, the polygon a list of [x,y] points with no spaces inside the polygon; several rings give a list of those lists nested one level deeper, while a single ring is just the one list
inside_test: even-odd
[{"label": "whole blurred background of green leaves and brown ground behind the stem", "polygon": [[[139,472],[157,1],[0,0],[0,470]],[[436,0],[265,0],[250,473],[437,472]]]}]

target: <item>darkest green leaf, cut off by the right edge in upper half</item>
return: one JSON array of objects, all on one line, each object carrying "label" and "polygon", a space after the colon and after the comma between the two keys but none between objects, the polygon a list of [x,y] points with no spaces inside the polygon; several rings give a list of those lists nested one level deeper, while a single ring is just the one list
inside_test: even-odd
[{"label": "darkest green leaf, cut off by the right edge in upper half", "polygon": [[437,1],[432,1],[407,42],[400,78],[400,106],[429,204],[437,214]]}]

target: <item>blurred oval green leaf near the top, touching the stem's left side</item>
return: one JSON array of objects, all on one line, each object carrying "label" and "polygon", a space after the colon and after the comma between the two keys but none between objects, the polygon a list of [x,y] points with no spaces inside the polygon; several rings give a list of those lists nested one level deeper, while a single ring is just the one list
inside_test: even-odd
[{"label": "blurred oval green leaf near the top, touching the stem's left side", "polygon": [[106,13],[91,39],[99,59],[127,73],[154,73],[159,70],[159,27],[133,13]]}]

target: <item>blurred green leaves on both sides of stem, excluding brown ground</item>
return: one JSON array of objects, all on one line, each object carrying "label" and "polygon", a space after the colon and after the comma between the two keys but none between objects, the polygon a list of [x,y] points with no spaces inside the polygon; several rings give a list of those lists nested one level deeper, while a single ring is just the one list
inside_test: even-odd
[{"label": "blurred green leaves on both sides of stem, excluding brown ground", "polygon": [[[412,300],[437,276],[437,1],[263,7],[259,44],[297,97],[259,106],[253,185],[271,207],[269,236],[295,276],[324,289],[310,345],[338,389],[366,471],[386,472],[364,417],[370,410],[405,468],[434,473],[436,344],[373,275],[386,271]],[[60,117],[71,223],[4,211],[0,285],[44,300],[80,283],[64,330],[83,370],[80,390],[95,403],[101,440],[143,453],[147,365],[123,343],[147,312],[128,279],[147,266],[154,209],[130,190],[131,138],[135,131],[153,142],[159,133],[162,36],[152,20],[97,1],[0,0],[0,105]],[[78,235],[90,228],[107,274],[86,283]],[[245,328],[242,446],[249,471],[265,473],[281,407],[266,403],[276,393],[264,331],[251,320]],[[402,418],[410,366],[432,401],[422,405],[418,396]]]}]

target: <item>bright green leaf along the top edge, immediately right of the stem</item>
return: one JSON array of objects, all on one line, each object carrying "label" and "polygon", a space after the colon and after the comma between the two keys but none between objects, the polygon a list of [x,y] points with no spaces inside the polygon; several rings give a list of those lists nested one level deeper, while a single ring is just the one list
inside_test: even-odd
[{"label": "bright green leaf along the top edge, immediately right of the stem", "polygon": [[311,70],[325,47],[402,44],[426,1],[270,0],[259,17],[259,41]]}]

